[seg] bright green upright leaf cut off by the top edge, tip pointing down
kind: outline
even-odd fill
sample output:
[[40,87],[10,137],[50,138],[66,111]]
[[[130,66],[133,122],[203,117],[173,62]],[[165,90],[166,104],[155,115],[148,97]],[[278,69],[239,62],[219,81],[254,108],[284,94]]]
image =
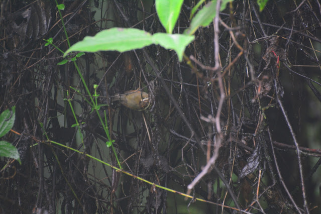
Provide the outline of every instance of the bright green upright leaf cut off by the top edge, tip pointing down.
[[171,34],[184,0],[156,0],[156,12],[166,32]]

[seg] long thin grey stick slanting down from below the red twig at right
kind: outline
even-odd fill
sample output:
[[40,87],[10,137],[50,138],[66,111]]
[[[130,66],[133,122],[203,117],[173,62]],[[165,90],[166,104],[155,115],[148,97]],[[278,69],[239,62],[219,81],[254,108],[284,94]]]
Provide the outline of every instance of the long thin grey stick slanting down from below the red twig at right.
[[[276,83],[276,79],[274,79],[274,84],[275,84],[275,88],[277,89],[277,83]],[[277,91],[277,90],[276,90]],[[295,133],[292,129],[292,126],[290,124],[290,121],[286,115],[286,112],[285,112],[285,109],[284,109],[284,106],[282,104],[282,101],[280,100],[280,97],[279,97],[279,93],[276,92],[276,99],[280,105],[280,108],[282,110],[282,113],[283,113],[283,116],[284,116],[284,119],[286,121],[286,124],[287,126],[289,127],[289,130],[291,132],[291,135],[292,135],[292,138],[293,138],[293,141],[294,141],[294,144],[295,144],[295,147],[296,147],[296,153],[297,153],[297,160],[298,160],[298,164],[299,164],[299,172],[300,172],[300,179],[301,179],[301,185],[302,185],[302,194],[303,194],[303,201],[304,201],[304,208],[305,208],[305,211],[306,213],[309,213],[309,208],[307,206],[307,202],[306,202],[306,194],[305,194],[305,186],[304,186],[304,179],[303,179],[303,171],[302,171],[302,161],[301,161],[301,151],[300,151],[300,148],[299,148],[299,145],[296,141],[296,138],[295,138]]]

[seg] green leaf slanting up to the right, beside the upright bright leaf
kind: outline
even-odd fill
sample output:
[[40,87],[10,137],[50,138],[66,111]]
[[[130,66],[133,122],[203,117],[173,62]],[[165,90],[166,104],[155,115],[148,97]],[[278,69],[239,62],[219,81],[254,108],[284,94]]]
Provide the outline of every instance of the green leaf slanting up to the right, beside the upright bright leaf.
[[[232,2],[232,0],[222,0],[220,11],[223,11],[226,8],[226,4],[229,2]],[[204,5],[204,7],[192,19],[189,28],[184,31],[184,34],[192,35],[199,27],[208,26],[216,16],[216,5],[216,0]]]

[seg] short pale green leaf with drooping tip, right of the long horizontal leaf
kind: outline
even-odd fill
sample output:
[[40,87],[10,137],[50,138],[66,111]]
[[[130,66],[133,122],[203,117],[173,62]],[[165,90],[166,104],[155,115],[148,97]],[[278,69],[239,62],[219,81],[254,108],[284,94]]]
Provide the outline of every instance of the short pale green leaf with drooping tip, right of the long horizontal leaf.
[[175,50],[179,61],[182,61],[186,46],[194,40],[194,36],[182,34],[156,33],[153,35],[154,44],[163,48]]

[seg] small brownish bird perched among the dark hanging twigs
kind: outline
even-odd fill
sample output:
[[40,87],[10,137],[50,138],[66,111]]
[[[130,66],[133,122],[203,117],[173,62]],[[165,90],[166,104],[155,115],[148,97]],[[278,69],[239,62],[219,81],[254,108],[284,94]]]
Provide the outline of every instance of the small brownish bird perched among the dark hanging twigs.
[[125,91],[123,94],[117,94],[112,100],[120,101],[122,105],[136,111],[145,111],[150,105],[149,94],[142,92],[139,89]]

